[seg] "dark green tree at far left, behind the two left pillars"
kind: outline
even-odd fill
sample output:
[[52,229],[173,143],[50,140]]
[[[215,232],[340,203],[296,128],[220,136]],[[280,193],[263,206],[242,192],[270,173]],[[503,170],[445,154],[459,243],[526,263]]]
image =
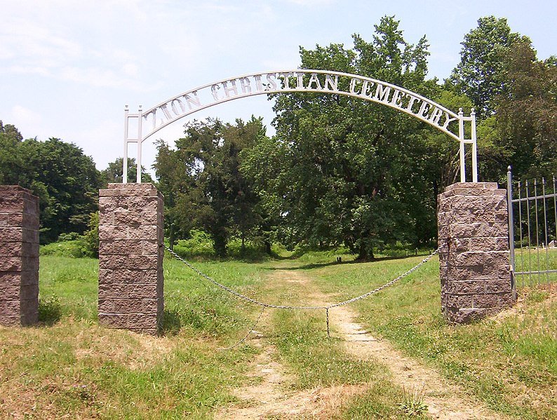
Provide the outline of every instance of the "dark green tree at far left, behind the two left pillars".
[[93,159],[71,143],[22,140],[10,125],[0,128],[0,179],[39,196],[41,242],[60,233],[83,233],[98,206],[100,174]]

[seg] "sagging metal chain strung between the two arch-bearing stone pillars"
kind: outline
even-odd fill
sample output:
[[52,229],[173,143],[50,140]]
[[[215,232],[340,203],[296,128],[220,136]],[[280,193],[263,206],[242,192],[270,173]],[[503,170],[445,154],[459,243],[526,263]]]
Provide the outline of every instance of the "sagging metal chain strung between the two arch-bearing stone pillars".
[[196,269],[194,266],[192,266],[192,264],[189,264],[189,262],[187,262],[185,259],[183,259],[182,257],[180,257],[180,255],[177,255],[176,252],[174,252],[173,250],[170,250],[170,248],[168,248],[166,245],[165,247],[166,250],[168,250],[168,252],[170,252],[171,255],[173,255],[173,257],[175,257],[176,259],[180,260],[181,262],[183,262],[184,264],[186,264],[190,269],[192,269],[193,271],[195,271],[196,273],[199,274],[199,276],[206,278],[207,280],[209,280],[211,283],[213,283],[214,285],[217,285],[218,287],[222,288],[223,290],[226,290],[227,292],[234,294],[234,296],[239,297],[240,299],[244,299],[248,302],[251,302],[253,304],[262,306],[264,308],[274,308],[274,309],[326,309],[327,310],[327,319],[328,319],[328,310],[330,308],[335,308],[337,306],[342,306],[342,305],[347,305],[347,304],[351,304],[353,302],[356,302],[358,300],[361,299],[365,299],[366,297],[370,296],[371,294],[375,294],[377,292],[380,292],[380,290],[383,290],[385,287],[389,287],[391,285],[394,285],[395,283],[397,283],[399,280],[402,280],[403,278],[405,278],[406,276],[408,276],[410,273],[412,273],[413,271],[417,270],[420,268],[420,266],[422,266],[423,264],[425,264],[426,262],[429,261],[429,259],[431,259],[431,257],[433,257],[434,255],[436,255],[439,252],[439,248],[437,248],[436,250],[434,250],[434,252],[431,252],[430,255],[428,255],[426,258],[422,259],[422,262],[420,262],[419,264],[417,264],[416,266],[413,266],[410,270],[406,271],[405,273],[401,274],[401,276],[398,276],[397,278],[394,278],[393,280],[389,281],[389,283],[385,283],[384,285],[377,287],[377,289],[374,290],[370,290],[370,292],[361,294],[360,296],[354,297],[352,299],[349,300],[345,300],[344,302],[339,302],[337,304],[332,304],[332,305],[328,305],[328,306],[287,306],[287,305],[273,305],[273,304],[267,304],[265,302],[259,302],[255,299],[252,299],[250,297],[247,297],[244,294],[241,294],[239,292],[236,292],[235,290],[232,290],[230,287],[227,287],[225,285],[222,285],[221,283],[217,282],[217,280],[213,280],[213,278],[210,278],[209,276],[207,276],[205,273],[203,273],[202,271],[199,271],[198,269]]

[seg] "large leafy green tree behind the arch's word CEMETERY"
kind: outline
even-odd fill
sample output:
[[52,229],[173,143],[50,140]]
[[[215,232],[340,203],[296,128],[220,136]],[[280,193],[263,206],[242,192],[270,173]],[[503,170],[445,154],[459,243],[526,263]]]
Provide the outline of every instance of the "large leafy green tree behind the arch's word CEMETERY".
[[[373,41],[354,35],[353,50],[300,48],[302,68],[356,72],[435,96],[436,81],[425,80],[426,39],[408,44],[398,25],[382,18]],[[384,243],[434,238],[436,172],[427,172],[424,123],[340,95],[281,94],[274,109],[276,137],[248,151],[246,174],[283,241],[344,243],[367,259]]]

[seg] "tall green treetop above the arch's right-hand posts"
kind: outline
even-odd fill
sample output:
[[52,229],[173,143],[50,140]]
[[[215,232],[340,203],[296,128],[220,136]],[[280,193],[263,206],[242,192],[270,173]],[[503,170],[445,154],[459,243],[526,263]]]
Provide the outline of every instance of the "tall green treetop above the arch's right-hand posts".
[[460,62],[452,70],[448,86],[467,95],[479,119],[495,112],[495,100],[504,89],[504,51],[520,38],[504,18],[478,19],[478,27],[464,36]]

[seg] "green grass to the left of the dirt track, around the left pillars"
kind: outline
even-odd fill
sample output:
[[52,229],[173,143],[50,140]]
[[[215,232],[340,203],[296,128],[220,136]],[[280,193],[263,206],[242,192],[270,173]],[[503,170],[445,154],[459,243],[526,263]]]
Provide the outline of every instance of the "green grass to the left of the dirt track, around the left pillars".
[[[253,264],[199,264],[246,294]],[[0,417],[209,419],[234,398],[255,349],[234,343],[255,308],[166,260],[165,337],[97,325],[98,261],[43,256],[36,327],[0,327]],[[15,334],[17,332],[17,334]]]

